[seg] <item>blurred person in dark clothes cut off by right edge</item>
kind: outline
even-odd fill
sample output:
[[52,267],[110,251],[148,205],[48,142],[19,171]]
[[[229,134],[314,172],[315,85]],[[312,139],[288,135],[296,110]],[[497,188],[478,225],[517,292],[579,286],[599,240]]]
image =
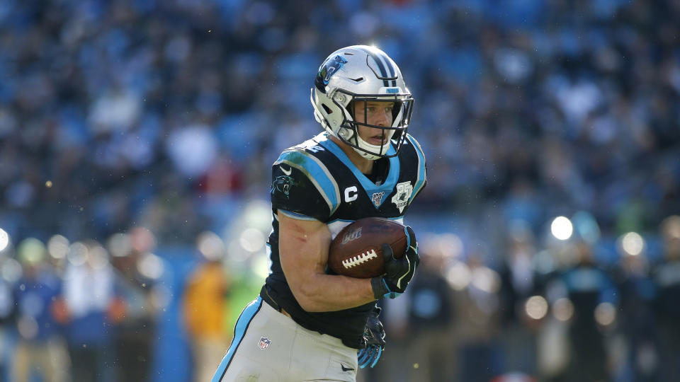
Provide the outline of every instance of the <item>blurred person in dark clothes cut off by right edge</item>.
[[669,216],[660,226],[663,259],[652,272],[657,288],[655,313],[659,336],[660,381],[680,376],[680,216]]

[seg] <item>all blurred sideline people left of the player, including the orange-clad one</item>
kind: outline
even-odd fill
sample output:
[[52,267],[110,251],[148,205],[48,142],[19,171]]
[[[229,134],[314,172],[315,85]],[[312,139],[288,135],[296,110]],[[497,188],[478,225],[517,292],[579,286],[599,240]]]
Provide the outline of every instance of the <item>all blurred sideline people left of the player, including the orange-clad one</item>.
[[173,250],[135,227],[103,243],[25,238],[11,252],[0,257],[0,381],[210,381],[266,276],[225,259],[209,231]]

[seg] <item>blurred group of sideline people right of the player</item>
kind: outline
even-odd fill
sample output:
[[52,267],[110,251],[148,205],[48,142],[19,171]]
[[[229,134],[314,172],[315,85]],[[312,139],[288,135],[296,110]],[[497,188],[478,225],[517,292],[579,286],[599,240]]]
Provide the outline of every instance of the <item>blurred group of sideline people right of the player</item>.
[[599,260],[583,232],[507,232],[496,265],[455,235],[426,236],[407,299],[386,302],[389,346],[363,381],[676,381],[680,216],[659,226],[659,258],[623,236]]

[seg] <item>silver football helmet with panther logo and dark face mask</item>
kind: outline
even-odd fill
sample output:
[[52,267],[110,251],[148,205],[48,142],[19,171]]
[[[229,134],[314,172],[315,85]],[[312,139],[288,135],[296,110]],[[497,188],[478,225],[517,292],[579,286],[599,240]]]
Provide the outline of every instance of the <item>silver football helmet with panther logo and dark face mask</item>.
[[[319,66],[310,100],[314,117],[322,127],[353,147],[363,158],[374,160],[395,156],[406,139],[413,97],[397,64],[378,48],[353,45],[331,53]],[[368,125],[354,120],[356,103],[369,101],[395,103],[392,126]],[[382,129],[383,144],[369,144],[361,139],[359,125]],[[389,151],[391,141],[395,144],[394,151]]]

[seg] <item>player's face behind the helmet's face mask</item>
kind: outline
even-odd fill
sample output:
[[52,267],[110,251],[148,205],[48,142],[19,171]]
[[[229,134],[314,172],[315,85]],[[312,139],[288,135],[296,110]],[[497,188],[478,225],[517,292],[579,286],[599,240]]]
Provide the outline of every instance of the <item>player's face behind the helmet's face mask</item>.
[[[390,127],[392,126],[392,109],[394,107],[395,103],[388,101],[359,101],[354,105],[354,120],[366,125]],[[382,136],[383,131],[385,132],[385,137]],[[394,130],[382,130],[375,127],[358,125],[359,137],[366,143],[375,146],[385,144],[392,138],[394,132]]]

